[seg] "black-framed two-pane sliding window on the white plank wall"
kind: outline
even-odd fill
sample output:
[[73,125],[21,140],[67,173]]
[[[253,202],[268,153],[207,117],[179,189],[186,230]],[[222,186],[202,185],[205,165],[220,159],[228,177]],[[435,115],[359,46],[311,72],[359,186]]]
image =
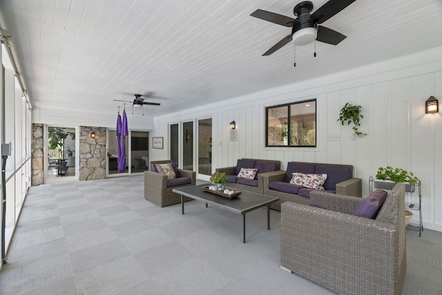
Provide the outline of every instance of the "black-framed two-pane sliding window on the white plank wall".
[[266,146],[316,146],[316,99],[269,106],[265,111]]

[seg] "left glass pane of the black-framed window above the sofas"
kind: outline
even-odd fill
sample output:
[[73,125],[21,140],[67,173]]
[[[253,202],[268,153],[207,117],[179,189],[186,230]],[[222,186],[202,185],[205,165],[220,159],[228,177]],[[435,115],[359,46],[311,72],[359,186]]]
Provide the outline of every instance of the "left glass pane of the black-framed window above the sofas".
[[267,108],[267,145],[287,146],[288,144],[288,106]]

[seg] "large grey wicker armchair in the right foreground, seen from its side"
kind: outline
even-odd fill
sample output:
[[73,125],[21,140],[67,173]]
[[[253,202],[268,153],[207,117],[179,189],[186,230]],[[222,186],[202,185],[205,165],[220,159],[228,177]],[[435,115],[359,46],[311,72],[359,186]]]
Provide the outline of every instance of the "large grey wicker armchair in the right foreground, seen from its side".
[[[311,193],[320,207],[281,207],[281,267],[340,294],[401,294],[407,269],[405,186],[388,193],[375,220],[351,215],[361,198]],[[332,211],[334,210],[334,211]]]

